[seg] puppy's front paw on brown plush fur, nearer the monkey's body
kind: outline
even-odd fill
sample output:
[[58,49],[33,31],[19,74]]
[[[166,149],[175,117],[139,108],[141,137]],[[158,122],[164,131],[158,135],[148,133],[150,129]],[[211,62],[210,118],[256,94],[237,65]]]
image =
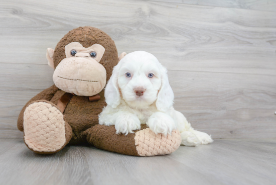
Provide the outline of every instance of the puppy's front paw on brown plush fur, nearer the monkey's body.
[[133,133],[133,130],[141,129],[141,122],[133,114],[121,114],[115,120],[116,134],[122,133],[127,135]]

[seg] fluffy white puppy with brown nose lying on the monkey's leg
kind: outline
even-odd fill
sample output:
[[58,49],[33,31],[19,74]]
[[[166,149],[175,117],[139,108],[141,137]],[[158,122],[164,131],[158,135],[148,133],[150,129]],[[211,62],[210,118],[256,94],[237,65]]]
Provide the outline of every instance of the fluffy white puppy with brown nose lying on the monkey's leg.
[[117,134],[133,133],[147,124],[156,134],[167,135],[178,129],[182,145],[213,142],[174,110],[167,69],[150,53],[135,51],[123,57],[113,69],[104,96],[107,106],[99,115],[99,124],[115,125]]

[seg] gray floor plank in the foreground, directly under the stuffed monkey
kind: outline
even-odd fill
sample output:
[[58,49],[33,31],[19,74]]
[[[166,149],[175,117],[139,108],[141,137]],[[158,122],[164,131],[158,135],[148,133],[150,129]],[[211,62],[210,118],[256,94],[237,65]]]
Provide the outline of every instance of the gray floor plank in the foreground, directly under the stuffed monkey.
[[83,146],[42,156],[20,143],[0,155],[1,184],[219,184],[168,156],[141,158]]

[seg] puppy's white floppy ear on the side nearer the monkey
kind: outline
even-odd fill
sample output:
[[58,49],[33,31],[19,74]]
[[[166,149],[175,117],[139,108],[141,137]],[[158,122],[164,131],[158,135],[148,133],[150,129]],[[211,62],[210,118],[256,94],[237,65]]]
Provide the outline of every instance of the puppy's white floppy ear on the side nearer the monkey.
[[121,101],[118,88],[119,64],[113,68],[112,75],[104,90],[105,102],[112,108],[116,108]]

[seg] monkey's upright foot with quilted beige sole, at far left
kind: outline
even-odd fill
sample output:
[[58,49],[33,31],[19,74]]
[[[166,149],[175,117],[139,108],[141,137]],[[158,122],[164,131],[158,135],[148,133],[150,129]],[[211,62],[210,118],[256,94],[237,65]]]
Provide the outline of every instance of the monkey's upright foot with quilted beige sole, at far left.
[[48,101],[31,103],[24,112],[23,126],[26,145],[40,154],[58,152],[72,137],[72,128],[63,114]]

